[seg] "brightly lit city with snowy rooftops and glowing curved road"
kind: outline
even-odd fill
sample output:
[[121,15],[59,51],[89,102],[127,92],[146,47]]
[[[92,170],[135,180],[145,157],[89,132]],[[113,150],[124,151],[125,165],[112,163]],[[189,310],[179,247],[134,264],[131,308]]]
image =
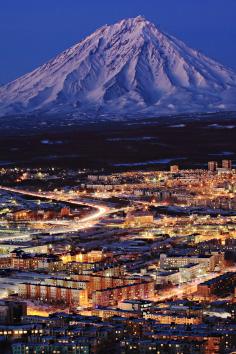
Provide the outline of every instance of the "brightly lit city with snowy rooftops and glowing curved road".
[[234,352],[235,191],[226,158],[0,168],[2,353]]

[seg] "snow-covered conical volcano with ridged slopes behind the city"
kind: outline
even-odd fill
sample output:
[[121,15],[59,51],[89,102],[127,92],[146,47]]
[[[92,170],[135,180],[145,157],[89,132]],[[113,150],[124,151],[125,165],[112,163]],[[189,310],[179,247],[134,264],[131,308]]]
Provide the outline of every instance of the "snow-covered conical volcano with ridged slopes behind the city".
[[98,29],[0,87],[1,115],[35,110],[119,115],[236,110],[236,74],[139,16]]

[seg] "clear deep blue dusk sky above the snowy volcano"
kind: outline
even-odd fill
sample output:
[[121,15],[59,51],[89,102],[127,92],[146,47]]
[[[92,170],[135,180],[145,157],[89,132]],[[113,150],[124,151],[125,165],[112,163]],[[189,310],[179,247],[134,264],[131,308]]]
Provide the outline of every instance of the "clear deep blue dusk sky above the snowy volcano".
[[0,83],[138,15],[236,71],[236,0],[1,0]]

